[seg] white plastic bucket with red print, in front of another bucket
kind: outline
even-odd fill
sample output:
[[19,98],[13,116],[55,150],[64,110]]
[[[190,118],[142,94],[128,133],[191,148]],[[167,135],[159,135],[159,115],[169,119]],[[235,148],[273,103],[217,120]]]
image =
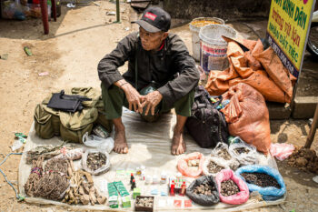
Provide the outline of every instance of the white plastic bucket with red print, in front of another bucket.
[[211,70],[222,71],[229,66],[227,43],[222,35],[235,38],[236,31],[228,25],[204,25],[200,29],[200,65],[206,74]]

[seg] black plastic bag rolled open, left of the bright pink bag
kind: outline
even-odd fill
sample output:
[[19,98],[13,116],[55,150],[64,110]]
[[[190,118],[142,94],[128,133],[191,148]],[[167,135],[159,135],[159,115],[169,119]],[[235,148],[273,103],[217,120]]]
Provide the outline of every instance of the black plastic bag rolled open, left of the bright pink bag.
[[[215,187],[215,190],[212,192],[212,196],[194,193],[194,188],[204,183]],[[195,203],[206,207],[213,206],[214,204],[220,202],[219,192],[217,190],[216,182],[213,176],[203,176],[195,179],[190,186],[186,188],[186,196],[191,198]]]

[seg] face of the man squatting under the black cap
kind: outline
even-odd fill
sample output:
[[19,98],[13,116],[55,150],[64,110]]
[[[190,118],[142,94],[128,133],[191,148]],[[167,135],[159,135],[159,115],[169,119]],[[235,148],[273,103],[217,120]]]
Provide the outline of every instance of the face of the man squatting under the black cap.
[[139,36],[146,51],[158,49],[167,35],[165,32],[149,33],[143,27],[139,27]]

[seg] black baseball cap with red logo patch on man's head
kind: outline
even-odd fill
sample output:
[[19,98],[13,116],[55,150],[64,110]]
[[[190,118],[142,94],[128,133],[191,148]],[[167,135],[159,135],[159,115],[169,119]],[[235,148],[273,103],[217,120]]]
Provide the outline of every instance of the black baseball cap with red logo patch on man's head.
[[142,26],[145,31],[156,33],[160,31],[167,32],[171,24],[171,16],[162,8],[152,6],[144,10],[142,19],[135,22]]

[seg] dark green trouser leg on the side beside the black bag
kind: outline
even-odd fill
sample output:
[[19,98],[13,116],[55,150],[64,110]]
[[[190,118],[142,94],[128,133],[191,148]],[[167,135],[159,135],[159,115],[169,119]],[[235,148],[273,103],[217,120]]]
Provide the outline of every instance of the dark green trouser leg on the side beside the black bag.
[[[174,103],[174,110],[177,115],[191,116],[191,108],[194,105],[194,90],[190,91],[187,95],[180,98]],[[172,108],[166,107],[163,104],[162,111],[166,112]]]

